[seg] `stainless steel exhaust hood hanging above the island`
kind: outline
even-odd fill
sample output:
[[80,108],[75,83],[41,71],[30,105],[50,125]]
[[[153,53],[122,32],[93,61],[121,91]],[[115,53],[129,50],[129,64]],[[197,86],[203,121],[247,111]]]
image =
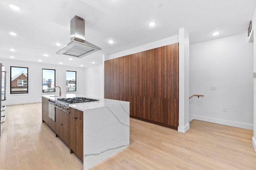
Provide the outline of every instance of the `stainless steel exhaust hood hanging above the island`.
[[99,50],[101,50],[100,47],[85,41],[84,19],[74,16],[70,21],[70,43],[62,47],[56,54],[82,58]]

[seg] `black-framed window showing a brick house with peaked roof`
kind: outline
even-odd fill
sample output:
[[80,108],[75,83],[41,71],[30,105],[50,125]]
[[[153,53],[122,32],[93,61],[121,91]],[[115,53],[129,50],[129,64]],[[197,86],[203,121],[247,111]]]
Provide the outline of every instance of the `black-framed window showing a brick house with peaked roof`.
[[28,93],[28,68],[11,66],[10,94]]

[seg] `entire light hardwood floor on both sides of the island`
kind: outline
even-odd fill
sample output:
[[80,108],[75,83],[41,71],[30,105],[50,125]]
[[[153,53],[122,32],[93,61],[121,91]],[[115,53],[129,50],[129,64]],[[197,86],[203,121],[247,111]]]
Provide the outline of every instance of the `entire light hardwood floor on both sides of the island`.
[[[0,169],[79,170],[82,163],[42,123],[41,103],[6,107]],[[92,170],[256,170],[253,131],[194,120],[186,133],[130,119],[130,146]]]

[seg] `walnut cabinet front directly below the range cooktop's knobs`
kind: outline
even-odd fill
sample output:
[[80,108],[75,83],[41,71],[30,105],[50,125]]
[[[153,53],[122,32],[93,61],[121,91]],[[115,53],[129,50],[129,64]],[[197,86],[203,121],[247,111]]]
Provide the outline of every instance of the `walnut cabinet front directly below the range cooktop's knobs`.
[[55,109],[56,137],[60,137],[70,147],[70,113]]

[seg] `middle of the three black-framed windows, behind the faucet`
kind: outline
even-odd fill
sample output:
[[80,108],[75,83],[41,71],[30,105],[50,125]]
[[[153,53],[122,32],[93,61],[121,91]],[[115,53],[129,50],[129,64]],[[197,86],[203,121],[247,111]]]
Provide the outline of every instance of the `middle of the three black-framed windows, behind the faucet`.
[[55,70],[42,70],[42,92],[55,92]]

